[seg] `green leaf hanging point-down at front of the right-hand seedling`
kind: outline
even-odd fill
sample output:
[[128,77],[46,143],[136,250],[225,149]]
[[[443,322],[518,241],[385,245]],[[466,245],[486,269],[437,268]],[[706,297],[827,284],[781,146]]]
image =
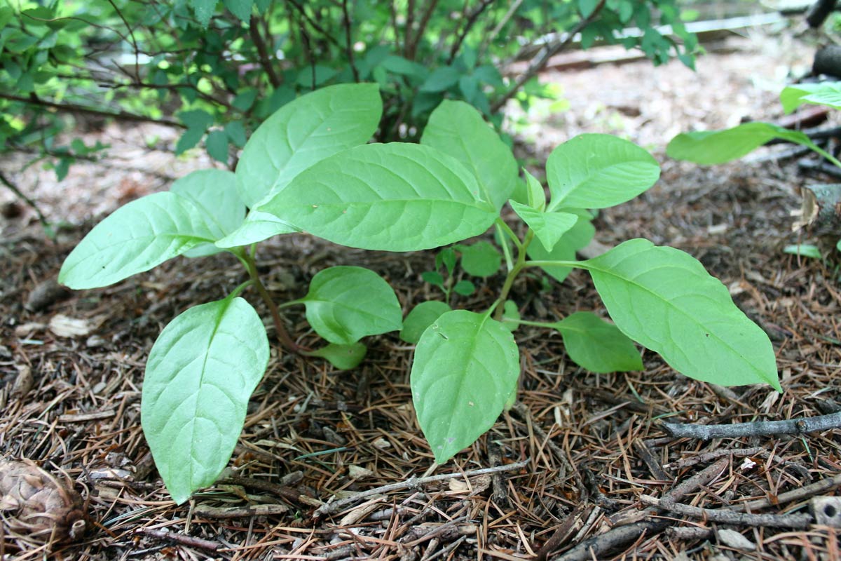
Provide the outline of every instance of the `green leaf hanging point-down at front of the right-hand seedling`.
[[410,382],[418,422],[437,463],[494,426],[519,376],[514,336],[488,315],[454,310],[424,331]]

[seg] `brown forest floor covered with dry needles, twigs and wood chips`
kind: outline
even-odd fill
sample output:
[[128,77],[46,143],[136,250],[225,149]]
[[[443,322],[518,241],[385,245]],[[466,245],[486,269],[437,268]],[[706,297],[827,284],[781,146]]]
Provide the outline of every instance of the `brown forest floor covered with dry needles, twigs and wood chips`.
[[[653,151],[663,164],[661,180],[602,212],[597,240],[612,246],[647,237],[700,259],[768,332],[782,394],[764,385],[696,382],[651,352],[643,372],[586,373],[569,362],[558,334],[521,328],[518,405],[433,470],[411,405],[412,347],[396,334],[369,341],[368,357],[350,372],[273,349],[228,479],[181,506],[167,495],[140,430],[145,357],[175,315],[241,283],[235,259],[178,258],[109,288],[40,300],[33,293],[55,280],[72,246],[104,213],[209,162],[175,159],[167,150],[172,131],[152,125],[87,132],[112,146],[110,157],[72,167],[60,184],[39,167],[20,171],[25,155],[6,158],[4,172],[50,220],[66,224],[52,242],[25,209],[0,218],[0,462],[27,458],[66,477],[86,501],[89,520],[87,532],[54,544],[51,553],[3,524],[0,558],[841,558],[837,527],[796,527],[782,516],[807,512],[812,495],[833,495],[841,485],[837,429],[701,441],[669,437],[662,426],[841,409],[838,259],[782,251],[809,241],[792,233],[798,188],[834,180],[802,175],[792,161],[754,157],[697,167],[664,156],[669,138],[683,130],[779,119],[776,93],[786,77],[807,70],[812,52],[788,31],[752,33],[701,57],[696,73],[676,61],[550,71],[544,81],[563,87],[566,102],[536,104],[526,115],[531,124],[517,124],[521,112],[511,112],[512,130],[526,146],[521,156],[536,172],[553,146],[585,131],[625,135]],[[278,301],[299,298],[316,272],[339,264],[383,275],[405,310],[438,297],[420,278],[432,268],[432,252],[356,251],[282,236],[263,244],[258,257]],[[476,294],[457,297],[457,307],[487,306],[502,275],[476,282]],[[580,272],[548,289],[522,278],[512,297],[526,319],[603,313]],[[246,298],[267,317],[255,294]],[[302,344],[316,345],[302,315],[290,313],[288,322]],[[489,467],[498,469],[468,474]],[[445,477],[411,479],[431,474]],[[808,486],[822,481],[828,483]],[[334,497],[400,483],[314,516]]]

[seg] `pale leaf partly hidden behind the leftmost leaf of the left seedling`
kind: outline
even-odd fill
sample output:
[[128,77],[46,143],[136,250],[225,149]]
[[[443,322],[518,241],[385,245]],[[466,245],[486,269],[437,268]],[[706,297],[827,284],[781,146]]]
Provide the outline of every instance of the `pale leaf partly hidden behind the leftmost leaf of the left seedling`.
[[[196,206],[217,240],[236,230],[245,218],[246,205],[236,194],[236,177],[227,170],[196,170],[177,179],[169,190]],[[193,247],[185,255],[201,257],[219,251],[217,246],[206,244]]]

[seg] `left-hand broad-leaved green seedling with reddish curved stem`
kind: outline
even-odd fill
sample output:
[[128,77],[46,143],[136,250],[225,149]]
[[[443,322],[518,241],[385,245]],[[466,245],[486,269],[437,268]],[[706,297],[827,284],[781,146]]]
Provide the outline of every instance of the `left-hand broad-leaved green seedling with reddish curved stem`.
[[71,251],[59,273],[70,288],[98,288],[183,255],[232,253],[249,280],[225,299],[200,304],[172,320],[151,348],[140,406],[141,423],[161,477],[181,504],[214,483],[230,460],[253,390],[266,371],[267,332],[240,294],[256,288],[284,347],[354,368],[365,336],[397,331],[402,310],[383,278],[362,267],[331,267],[309,292],[280,309],[303,304],[313,330],[328,344],[300,348],[278,306],[257,277],[256,243],[296,229],[251,208],[283,190],[317,161],[367,142],[382,113],[378,87],[325,87],[280,108],[248,140],[235,173],[192,172],[125,204]]

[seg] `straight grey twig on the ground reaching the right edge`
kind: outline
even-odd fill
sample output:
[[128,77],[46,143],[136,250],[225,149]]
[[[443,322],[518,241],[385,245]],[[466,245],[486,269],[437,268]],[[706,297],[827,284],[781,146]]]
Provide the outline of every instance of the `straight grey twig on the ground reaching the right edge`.
[[780,434],[805,434],[807,432],[826,431],[841,427],[841,412],[786,421],[756,421],[735,425],[690,425],[682,423],[663,423],[664,431],[674,438],[712,438],[761,437]]

